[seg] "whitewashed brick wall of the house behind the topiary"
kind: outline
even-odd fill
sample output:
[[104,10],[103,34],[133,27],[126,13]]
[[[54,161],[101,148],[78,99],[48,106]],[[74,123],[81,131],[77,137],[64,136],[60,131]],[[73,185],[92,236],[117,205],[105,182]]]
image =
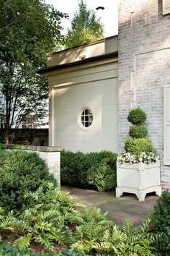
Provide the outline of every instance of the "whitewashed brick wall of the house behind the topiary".
[[161,158],[161,186],[170,187],[170,166],[163,164],[163,88],[170,85],[170,14],[161,0],[119,1],[119,148],[128,137],[128,111],[148,114],[148,137]]

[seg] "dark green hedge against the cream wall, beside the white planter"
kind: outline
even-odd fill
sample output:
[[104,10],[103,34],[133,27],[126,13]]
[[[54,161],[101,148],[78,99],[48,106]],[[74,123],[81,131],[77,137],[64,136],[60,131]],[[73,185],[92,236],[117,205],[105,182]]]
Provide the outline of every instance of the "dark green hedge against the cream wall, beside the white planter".
[[106,191],[116,186],[117,155],[99,153],[61,152],[61,183]]

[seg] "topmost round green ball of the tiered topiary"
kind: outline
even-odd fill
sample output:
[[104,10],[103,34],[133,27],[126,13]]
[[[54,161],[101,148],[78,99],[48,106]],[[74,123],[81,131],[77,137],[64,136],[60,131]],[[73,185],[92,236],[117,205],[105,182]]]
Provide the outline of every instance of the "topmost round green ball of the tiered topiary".
[[128,114],[128,121],[132,124],[143,124],[146,121],[146,112],[142,108],[137,107],[130,110]]

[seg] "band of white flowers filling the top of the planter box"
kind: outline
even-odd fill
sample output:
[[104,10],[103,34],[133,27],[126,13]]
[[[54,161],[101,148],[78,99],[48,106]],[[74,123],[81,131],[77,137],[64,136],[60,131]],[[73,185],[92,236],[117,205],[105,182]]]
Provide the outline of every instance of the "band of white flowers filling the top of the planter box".
[[154,152],[141,152],[141,153],[119,153],[117,155],[117,162],[120,163],[156,163],[159,160],[158,155]]

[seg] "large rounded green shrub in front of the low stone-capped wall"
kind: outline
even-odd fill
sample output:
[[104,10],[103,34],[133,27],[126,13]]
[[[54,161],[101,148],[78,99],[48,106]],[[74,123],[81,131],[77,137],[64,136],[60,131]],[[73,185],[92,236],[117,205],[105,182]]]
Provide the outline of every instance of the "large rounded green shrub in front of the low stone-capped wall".
[[0,150],[0,206],[16,213],[25,208],[24,193],[56,181],[36,153]]

